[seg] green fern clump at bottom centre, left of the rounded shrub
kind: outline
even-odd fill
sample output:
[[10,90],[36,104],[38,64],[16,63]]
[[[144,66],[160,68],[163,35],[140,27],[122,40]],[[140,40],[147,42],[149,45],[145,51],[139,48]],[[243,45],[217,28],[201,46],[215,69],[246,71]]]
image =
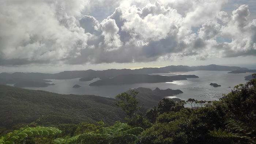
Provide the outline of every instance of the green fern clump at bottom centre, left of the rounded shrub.
[[[103,125],[101,125],[103,126]],[[116,122],[113,126],[94,127],[83,134],[79,134],[67,139],[56,139],[55,144],[125,144],[134,143],[138,135],[143,131],[142,128],[132,128],[128,124]],[[91,128],[91,126],[90,126]],[[95,129],[96,128],[96,129]]]

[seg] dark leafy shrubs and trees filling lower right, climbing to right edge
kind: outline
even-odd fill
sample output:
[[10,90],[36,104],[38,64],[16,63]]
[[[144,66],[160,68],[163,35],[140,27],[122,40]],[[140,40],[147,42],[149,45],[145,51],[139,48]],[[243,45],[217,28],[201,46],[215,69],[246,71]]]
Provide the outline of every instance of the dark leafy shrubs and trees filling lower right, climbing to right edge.
[[219,101],[187,103],[192,109],[169,105],[169,111],[158,106],[148,110],[146,116],[154,124],[140,134],[138,143],[255,143],[256,80],[236,86]]

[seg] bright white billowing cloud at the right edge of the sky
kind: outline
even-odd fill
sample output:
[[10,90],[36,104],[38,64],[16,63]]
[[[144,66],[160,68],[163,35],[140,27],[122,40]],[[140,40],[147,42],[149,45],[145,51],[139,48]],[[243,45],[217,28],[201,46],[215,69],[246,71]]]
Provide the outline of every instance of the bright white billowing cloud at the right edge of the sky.
[[220,35],[232,38],[230,43],[220,43],[217,47],[224,57],[256,54],[256,19],[249,19],[248,5],[241,5],[232,12],[231,20],[223,26]]

